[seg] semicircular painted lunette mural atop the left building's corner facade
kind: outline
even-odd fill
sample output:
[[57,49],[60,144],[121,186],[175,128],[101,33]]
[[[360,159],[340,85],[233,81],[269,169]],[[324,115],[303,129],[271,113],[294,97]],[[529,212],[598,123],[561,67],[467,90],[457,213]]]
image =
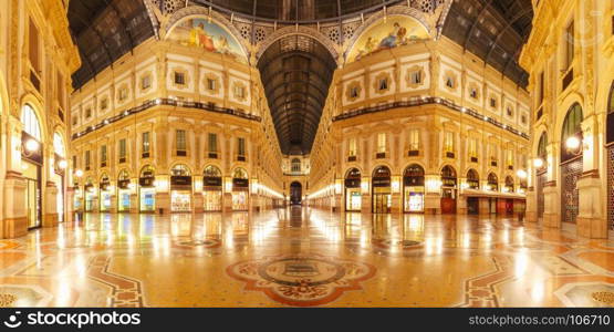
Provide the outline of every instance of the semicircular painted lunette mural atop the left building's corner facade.
[[208,18],[185,18],[169,30],[166,39],[207,52],[226,54],[236,61],[247,63],[247,55],[237,39]]

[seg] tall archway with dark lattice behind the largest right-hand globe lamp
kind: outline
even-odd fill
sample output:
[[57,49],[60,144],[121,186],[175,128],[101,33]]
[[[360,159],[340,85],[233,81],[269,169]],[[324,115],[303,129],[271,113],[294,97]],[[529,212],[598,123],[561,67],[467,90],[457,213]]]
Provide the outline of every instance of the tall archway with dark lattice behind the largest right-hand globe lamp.
[[580,195],[577,179],[582,175],[582,106],[573,104],[561,131],[561,221],[575,224]]

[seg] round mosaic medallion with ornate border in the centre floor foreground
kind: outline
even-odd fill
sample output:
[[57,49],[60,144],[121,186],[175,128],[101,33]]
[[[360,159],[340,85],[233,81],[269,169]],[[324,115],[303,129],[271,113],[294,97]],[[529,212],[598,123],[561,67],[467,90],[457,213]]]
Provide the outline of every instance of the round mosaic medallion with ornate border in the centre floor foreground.
[[261,291],[280,303],[298,307],[334,301],[345,291],[362,289],[375,276],[365,262],[315,253],[275,256],[238,262],[227,268],[230,277],[246,282],[246,290]]

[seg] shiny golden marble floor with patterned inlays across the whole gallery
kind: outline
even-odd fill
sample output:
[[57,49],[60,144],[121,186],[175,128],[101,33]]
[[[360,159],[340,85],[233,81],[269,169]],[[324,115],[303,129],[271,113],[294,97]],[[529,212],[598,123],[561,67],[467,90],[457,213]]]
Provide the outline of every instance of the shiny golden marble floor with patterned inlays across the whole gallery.
[[613,307],[614,240],[496,216],[110,215],[0,240],[0,307]]

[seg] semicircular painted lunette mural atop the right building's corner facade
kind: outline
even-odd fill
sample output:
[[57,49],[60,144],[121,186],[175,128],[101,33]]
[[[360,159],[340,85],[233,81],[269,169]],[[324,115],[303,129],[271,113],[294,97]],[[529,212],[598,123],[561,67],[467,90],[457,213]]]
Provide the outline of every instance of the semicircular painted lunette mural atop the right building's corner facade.
[[360,60],[382,50],[430,39],[428,30],[407,15],[389,15],[368,27],[347,52],[346,62]]

